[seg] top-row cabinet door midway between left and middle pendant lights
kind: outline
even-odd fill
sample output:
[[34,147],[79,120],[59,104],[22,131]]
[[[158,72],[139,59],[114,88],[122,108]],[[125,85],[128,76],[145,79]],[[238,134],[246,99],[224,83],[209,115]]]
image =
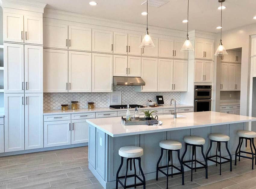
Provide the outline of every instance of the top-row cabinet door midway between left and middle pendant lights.
[[165,58],[173,58],[174,56],[174,41],[173,39],[159,38],[158,56]]

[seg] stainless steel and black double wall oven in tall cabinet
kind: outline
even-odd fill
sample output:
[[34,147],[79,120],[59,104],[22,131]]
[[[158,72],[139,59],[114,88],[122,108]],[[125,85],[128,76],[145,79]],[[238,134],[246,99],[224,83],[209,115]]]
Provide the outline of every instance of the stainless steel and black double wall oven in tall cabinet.
[[195,111],[211,111],[211,85],[195,85]]

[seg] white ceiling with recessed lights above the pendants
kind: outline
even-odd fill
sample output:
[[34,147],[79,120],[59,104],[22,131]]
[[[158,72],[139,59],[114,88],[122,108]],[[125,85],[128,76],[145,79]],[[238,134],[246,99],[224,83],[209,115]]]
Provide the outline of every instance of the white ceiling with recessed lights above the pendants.
[[[146,11],[145,0],[95,0],[96,6],[89,5],[91,0],[32,0],[47,3],[46,8],[57,9],[92,15],[96,17],[123,20],[133,23],[145,23],[146,17],[141,12]],[[208,32],[219,32],[220,6],[218,0],[190,0],[189,30],[198,29]],[[226,0],[227,8],[223,10],[223,30],[256,23],[255,0]],[[148,24],[165,28],[186,30],[182,23],[187,17],[187,0],[169,0],[165,5],[148,8]],[[150,29],[150,28],[149,28]]]

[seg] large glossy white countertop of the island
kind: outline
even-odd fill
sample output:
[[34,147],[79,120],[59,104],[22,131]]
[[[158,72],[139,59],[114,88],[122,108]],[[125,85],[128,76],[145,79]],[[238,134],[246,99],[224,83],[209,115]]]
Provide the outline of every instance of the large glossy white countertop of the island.
[[[183,117],[178,117],[178,115]],[[125,126],[121,123],[120,117],[87,119],[86,121],[112,137],[256,121],[256,117],[226,114],[215,111],[178,113],[176,119],[173,118],[173,115],[160,115],[158,118],[163,122],[160,126]]]

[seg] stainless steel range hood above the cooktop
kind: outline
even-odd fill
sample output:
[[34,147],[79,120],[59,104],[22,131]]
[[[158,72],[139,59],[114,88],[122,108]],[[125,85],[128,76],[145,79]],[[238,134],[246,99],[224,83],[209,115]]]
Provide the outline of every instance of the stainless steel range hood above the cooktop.
[[145,81],[143,81],[140,77],[113,77],[114,85],[145,85]]

